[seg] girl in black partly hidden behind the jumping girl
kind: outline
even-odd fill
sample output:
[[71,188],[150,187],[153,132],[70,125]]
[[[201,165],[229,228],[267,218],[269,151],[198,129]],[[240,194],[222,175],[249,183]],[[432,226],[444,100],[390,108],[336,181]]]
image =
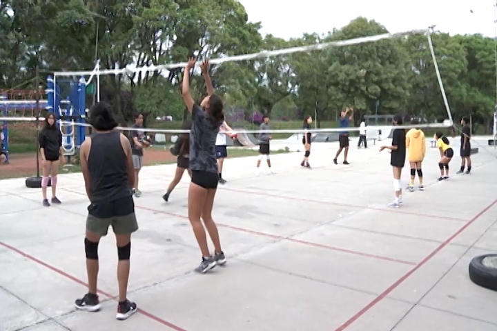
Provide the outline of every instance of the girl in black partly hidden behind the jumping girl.
[[[190,130],[192,126],[191,121],[185,121],[183,123],[183,130]],[[184,170],[188,172],[188,175],[191,178],[191,170],[190,168],[190,134],[189,133],[182,133],[177,141],[175,142],[175,146],[171,148],[170,150],[171,154],[175,155],[177,157],[176,161],[176,172],[175,172],[175,177],[173,180],[170,182],[168,186],[168,190],[166,194],[162,196],[162,199],[164,201],[169,200],[169,194],[170,192],[173,192],[174,188],[176,185],[181,181]]]

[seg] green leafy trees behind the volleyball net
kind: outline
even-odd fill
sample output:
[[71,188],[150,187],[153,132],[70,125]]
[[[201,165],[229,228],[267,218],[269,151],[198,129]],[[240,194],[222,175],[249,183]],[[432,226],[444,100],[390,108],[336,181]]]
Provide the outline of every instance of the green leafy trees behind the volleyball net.
[[[388,32],[364,17],[326,35],[291,40],[271,34],[263,38],[259,30],[260,23],[249,22],[235,0],[0,1],[0,88],[26,86],[37,66],[45,74],[91,70],[97,58],[101,69],[142,67],[188,56],[216,58]],[[472,115],[488,128],[496,101],[494,40],[445,33],[431,37],[454,118]],[[104,76],[101,99],[113,104],[119,121],[132,119],[135,112],[149,120],[168,115],[181,119],[188,115],[179,94],[182,72],[174,68]],[[316,114],[318,126],[324,126],[322,121],[335,119],[345,106],[355,108],[355,125],[376,110],[430,120],[447,117],[425,35],[222,63],[211,68],[211,75],[227,106],[246,114],[253,108],[273,119],[300,121],[305,114]],[[191,85],[194,98],[202,99],[205,88],[198,70]]]

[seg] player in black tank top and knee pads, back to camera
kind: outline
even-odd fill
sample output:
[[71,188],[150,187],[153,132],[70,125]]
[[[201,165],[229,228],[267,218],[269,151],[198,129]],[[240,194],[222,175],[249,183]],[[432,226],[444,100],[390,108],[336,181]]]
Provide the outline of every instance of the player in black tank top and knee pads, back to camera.
[[117,243],[117,283],[119,303],[116,319],[128,319],[137,305],[128,300],[131,234],[138,230],[131,189],[135,186],[133,151],[128,138],[121,134],[112,110],[106,103],[96,103],[90,112],[93,134],[81,144],[79,158],[86,195],[90,200],[86,218],[84,247],[88,293],[75,301],[76,308],[96,312],[101,305],[97,296],[99,272],[98,246],[111,225]]

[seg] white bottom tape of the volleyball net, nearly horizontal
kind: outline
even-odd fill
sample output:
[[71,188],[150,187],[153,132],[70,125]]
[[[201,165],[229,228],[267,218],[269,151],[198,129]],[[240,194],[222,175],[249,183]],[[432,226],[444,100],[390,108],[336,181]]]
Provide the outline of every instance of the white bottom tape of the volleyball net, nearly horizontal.
[[[23,121],[23,122],[31,122],[31,121],[44,121],[44,117],[39,117],[37,119],[36,117],[0,117],[0,121]],[[64,125],[64,126],[85,126],[85,127],[90,127],[90,124],[88,123],[77,123],[73,121],[57,121],[59,124]],[[388,130],[388,129],[413,129],[413,128],[451,128],[452,124],[451,123],[426,123],[426,124],[418,124],[416,126],[411,126],[411,125],[406,125],[406,126],[366,126],[366,130]],[[150,133],[169,133],[169,134],[181,134],[181,133],[189,133],[190,130],[174,130],[174,129],[155,129],[155,128],[128,128],[128,127],[117,127],[117,130],[123,130],[123,131],[146,131],[149,134]],[[324,128],[324,129],[295,129],[295,130],[245,130],[245,129],[237,129],[233,130],[230,133],[252,133],[252,134],[259,134],[259,133],[303,133],[303,132],[311,132],[311,133],[332,133],[332,132],[358,132],[364,130],[364,128]]]

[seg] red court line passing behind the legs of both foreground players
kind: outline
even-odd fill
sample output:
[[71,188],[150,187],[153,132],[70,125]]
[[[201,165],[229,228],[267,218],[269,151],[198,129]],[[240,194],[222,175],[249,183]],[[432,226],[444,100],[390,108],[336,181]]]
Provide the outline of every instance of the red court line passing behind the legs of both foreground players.
[[[79,194],[79,195],[86,196],[86,194],[84,194],[84,193],[77,192],[77,191],[74,191],[74,190],[68,190],[66,188],[59,188],[59,190],[64,190],[64,191],[71,192],[71,193],[74,193],[74,194]],[[186,217],[184,215],[175,214],[173,212],[166,212],[164,210],[158,210],[158,209],[154,209],[154,208],[148,208],[148,207],[144,207],[142,205],[136,205],[135,204],[135,208],[141,209],[141,210],[148,210],[149,212],[155,212],[157,214],[165,214],[165,215],[169,215],[169,216],[172,216],[172,217],[178,217],[178,218],[181,218],[181,219],[188,219],[188,217]],[[216,224],[217,224],[217,226],[220,226],[221,228],[227,228],[227,229],[231,229],[231,230],[235,230],[235,231],[239,231],[239,232],[244,232],[244,233],[248,233],[248,234],[255,234],[255,235],[260,236],[260,237],[272,238],[272,239],[277,239],[277,240],[291,241],[293,243],[300,243],[302,245],[308,245],[308,246],[315,247],[315,248],[324,248],[326,250],[333,250],[335,252],[342,252],[342,253],[346,253],[346,254],[353,254],[353,255],[356,255],[356,256],[359,256],[359,257],[369,257],[371,259],[378,259],[378,260],[383,260],[383,261],[396,262],[396,263],[401,263],[401,264],[406,264],[406,265],[416,265],[415,262],[405,261],[405,260],[400,260],[400,259],[394,259],[393,257],[384,257],[384,256],[381,256],[381,255],[369,254],[369,253],[365,253],[365,252],[358,252],[358,251],[355,251],[355,250],[347,250],[345,248],[338,248],[338,247],[334,247],[334,246],[330,246],[330,245],[324,245],[322,243],[313,243],[311,241],[304,241],[304,240],[295,239],[295,238],[292,238],[292,237],[284,237],[284,236],[279,236],[277,234],[270,234],[270,233],[266,233],[266,232],[260,232],[260,231],[256,231],[256,230],[250,230],[250,229],[246,229],[246,228],[240,228],[240,227],[237,227],[237,226],[234,226],[234,225],[228,225],[228,224],[224,224],[224,223],[218,223],[218,222],[216,222]]]

